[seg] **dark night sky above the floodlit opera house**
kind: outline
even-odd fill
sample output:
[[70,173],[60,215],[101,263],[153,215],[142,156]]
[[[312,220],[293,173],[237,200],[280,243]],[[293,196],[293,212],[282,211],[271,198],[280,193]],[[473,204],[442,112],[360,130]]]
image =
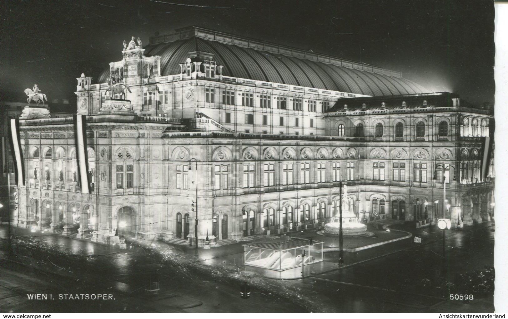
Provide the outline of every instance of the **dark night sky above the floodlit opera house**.
[[[173,2],[174,1],[174,2]],[[75,100],[121,60],[122,41],[197,25],[401,71],[429,91],[494,102],[491,1],[6,1],[0,4],[0,91],[38,84]],[[338,34],[351,33],[351,34]],[[95,83],[95,82],[93,82]]]

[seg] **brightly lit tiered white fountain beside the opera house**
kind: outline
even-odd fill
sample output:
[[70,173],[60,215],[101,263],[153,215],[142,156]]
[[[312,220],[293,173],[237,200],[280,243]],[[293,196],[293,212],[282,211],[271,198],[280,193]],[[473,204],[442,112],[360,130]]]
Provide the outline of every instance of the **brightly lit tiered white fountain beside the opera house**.
[[[342,234],[344,236],[369,236],[367,225],[360,222],[358,217],[349,210],[347,198],[347,187],[343,186],[342,191]],[[337,212],[331,222],[325,224],[325,231],[318,232],[322,235],[339,235],[340,217]]]

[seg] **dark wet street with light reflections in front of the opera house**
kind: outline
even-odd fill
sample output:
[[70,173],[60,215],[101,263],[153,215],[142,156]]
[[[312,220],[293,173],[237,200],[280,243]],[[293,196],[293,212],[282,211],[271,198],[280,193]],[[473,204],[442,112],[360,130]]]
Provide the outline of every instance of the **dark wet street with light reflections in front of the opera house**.
[[[57,235],[21,241],[58,243],[63,253],[15,245],[7,254],[2,241],[0,311],[39,312],[491,312],[489,294],[469,303],[450,301],[461,273],[493,265],[494,232],[489,224],[465,230],[447,230],[446,258],[442,258],[442,232],[434,227],[406,229],[422,238],[345,254],[347,267],[303,280],[257,281],[251,298],[240,298],[240,283],[224,272],[203,273],[193,265],[176,267],[167,256],[132,246],[111,251],[92,243],[77,243]],[[0,232],[5,236],[5,226]],[[76,256],[75,254],[96,256]],[[334,260],[337,253],[326,253]],[[155,296],[143,292],[150,281],[159,281]],[[263,289],[262,287],[266,287]],[[268,288],[269,287],[269,288]],[[286,292],[281,297],[282,291]],[[114,300],[38,300],[26,293],[110,293]],[[289,294],[287,292],[290,292]],[[292,294],[295,298],[291,298]],[[289,297],[288,297],[289,295]],[[298,298],[296,298],[298,296]],[[304,308],[301,298],[313,303]],[[299,301],[300,300],[300,301]]]

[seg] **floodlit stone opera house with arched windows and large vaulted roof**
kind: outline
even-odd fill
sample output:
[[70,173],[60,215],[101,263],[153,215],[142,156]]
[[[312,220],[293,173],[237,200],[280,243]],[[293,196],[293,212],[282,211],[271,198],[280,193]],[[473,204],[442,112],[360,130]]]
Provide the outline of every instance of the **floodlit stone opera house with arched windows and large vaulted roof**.
[[[197,201],[199,245],[226,245],[322,226],[339,181],[360,220],[425,225],[442,216],[443,175],[454,225],[490,218],[491,113],[455,94],[197,27],[122,55],[99,84],[77,78],[85,175],[72,118],[20,121],[17,226],[185,244],[196,237]],[[128,86],[126,100],[108,91],[115,83]]]

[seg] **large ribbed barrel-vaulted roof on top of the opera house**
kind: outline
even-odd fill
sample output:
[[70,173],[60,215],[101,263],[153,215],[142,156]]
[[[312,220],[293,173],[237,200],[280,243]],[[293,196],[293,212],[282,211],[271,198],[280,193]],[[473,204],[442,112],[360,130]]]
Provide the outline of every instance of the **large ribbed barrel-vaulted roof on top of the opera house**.
[[213,54],[223,75],[363,95],[426,90],[400,72],[199,27],[150,38],[145,55],[161,56],[161,74],[180,73],[189,52]]

